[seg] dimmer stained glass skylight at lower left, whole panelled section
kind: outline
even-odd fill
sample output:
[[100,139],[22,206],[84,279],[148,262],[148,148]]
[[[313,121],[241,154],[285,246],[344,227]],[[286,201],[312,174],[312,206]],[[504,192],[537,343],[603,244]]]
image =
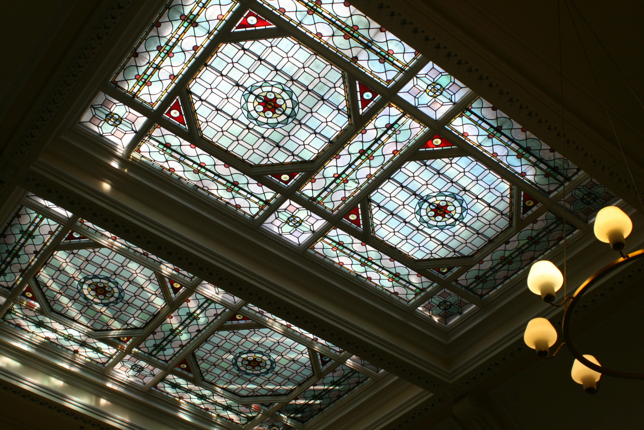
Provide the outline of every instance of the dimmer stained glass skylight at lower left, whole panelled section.
[[216,420],[301,428],[384,375],[35,195],[3,230],[0,258],[4,329]]

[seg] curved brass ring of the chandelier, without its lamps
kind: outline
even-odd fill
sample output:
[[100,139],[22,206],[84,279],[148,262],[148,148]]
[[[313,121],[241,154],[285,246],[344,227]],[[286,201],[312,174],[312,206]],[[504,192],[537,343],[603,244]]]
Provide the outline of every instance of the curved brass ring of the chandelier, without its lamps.
[[[576,347],[574,347],[573,341],[569,333],[569,326],[571,324],[571,318],[573,317],[574,308],[579,303],[580,298],[582,298],[583,294],[587,292],[592,286],[594,286],[594,284],[602,280],[606,275],[609,275],[609,273],[612,273],[613,271],[621,268],[622,266],[625,266],[626,264],[632,262],[633,260],[641,259],[643,257],[644,257],[644,249],[639,249],[638,251],[629,253],[625,255],[625,257],[621,257],[620,259],[617,259],[611,262],[610,264],[608,264],[607,266],[605,266],[604,268],[600,269],[599,271],[594,273],[594,275],[589,277],[589,279],[585,280],[585,282],[583,282],[583,284],[577,289],[577,291],[574,292],[574,295],[570,304],[565,309],[564,321],[562,322],[562,332],[564,334],[565,345],[568,347],[571,354],[573,354],[573,357],[576,358],[581,364],[583,364],[583,366],[586,366],[591,370],[599,372],[602,375],[614,376],[616,378],[644,380],[644,373],[626,373],[626,372],[612,370],[612,369],[609,369],[608,367],[598,366],[592,363],[591,361],[589,361],[587,358],[583,357],[583,355],[579,351],[577,351]],[[566,300],[567,298],[564,299],[564,302]]]

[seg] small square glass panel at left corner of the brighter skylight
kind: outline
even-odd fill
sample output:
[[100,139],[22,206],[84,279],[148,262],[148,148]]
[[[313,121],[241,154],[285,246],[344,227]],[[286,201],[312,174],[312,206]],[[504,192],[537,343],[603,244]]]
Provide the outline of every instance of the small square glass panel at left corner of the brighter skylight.
[[137,111],[109,95],[99,93],[82,116],[80,124],[123,150],[144,122],[146,117]]

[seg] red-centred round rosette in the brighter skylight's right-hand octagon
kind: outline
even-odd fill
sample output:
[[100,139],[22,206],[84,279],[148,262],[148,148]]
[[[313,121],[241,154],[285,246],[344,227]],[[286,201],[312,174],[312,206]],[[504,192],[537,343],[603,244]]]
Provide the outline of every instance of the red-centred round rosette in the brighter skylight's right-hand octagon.
[[416,207],[416,217],[426,227],[444,229],[455,226],[465,217],[465,200],[454,193],[435,193],[423,197]]

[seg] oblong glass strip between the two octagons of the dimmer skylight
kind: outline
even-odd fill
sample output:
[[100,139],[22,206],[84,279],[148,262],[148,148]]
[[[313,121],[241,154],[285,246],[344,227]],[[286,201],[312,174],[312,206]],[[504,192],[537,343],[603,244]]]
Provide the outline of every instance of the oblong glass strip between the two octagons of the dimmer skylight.
[[210,298],[194,293],[168,315],[160,327],[142,342],[139,349],[167,362],[224,310],[222,305]]

